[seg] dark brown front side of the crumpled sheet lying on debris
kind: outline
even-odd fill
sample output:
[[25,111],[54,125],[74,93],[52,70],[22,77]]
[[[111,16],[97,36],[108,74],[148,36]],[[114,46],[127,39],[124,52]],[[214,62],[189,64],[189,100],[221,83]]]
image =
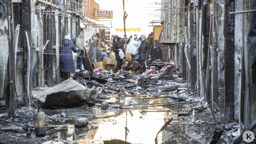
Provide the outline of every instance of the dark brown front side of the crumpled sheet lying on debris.
[[95,104],[98,90],[71,90],[68,92],[51,93],[46,96],[43,106],[45,107],[79,107],[85,103],[91,107]]

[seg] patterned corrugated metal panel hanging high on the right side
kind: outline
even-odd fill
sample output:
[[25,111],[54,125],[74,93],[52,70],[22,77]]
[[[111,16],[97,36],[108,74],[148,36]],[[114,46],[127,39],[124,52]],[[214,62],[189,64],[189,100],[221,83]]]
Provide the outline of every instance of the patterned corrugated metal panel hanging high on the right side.
[[168,2],[160,43],[173,46],[184,42],[184,4],[184,0]]

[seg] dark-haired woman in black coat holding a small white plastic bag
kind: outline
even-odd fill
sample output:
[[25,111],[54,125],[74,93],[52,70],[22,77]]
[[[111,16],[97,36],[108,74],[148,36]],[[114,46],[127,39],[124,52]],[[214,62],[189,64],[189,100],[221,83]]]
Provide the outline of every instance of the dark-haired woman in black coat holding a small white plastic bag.
[[[129,41],[130,39],[127,40],[127,43],[129,43]],[[125,41],[121,37],[118,37],[117,35],[114,36],[113,51],[115,52],[115,59],[117,61],[116,71],[121,70],[122,62],[123,62],[123,59],[125,58],[124,56],[124,58],[121,59],[119,56],[119,49],[121,49],[124,52],[124,43]]]

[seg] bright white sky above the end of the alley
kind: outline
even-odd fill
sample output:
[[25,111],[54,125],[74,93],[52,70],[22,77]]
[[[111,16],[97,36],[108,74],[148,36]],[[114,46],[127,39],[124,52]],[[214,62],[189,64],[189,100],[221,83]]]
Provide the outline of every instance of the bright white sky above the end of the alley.
[[[122,0],[95,0],[99,3],[100,10],[113,10],[113,19],[100,19],[111,20],[112,29],[110,29],[110,35],[124,36],[124,32],[116,32],[115,28],[124,28],[123,23],[123,1]],[[126,19],[126,28],[141,28],[141,32],[126,32],[127,37],[137,34],[140,37],[142,34],[148,36],[152,32],[152,24],[149,24],[153,20],[160,20],[161,3],[150,4],[155,2],[161,2],[161,0],[125,0],[124,9],[128,13]],[[154,7],[154,8],[142,8],[142,7]],[[157,10],[157,11],[155,11]],[[157,14],[157,15],[148,15]],[[150,26],[151,25],[151,26]],[[154,24],[154,25],[160,25]]]

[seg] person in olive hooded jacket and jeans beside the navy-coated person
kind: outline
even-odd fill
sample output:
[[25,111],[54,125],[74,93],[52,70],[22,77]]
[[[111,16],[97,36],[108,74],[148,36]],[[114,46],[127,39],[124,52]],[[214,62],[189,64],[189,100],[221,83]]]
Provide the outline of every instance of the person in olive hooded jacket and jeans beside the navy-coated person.
[[84,35],[79,35],[76,38],[76,47],[78,48],[78,52],[77,52],[77,67],[79,68],[79,70],[82,70],[82,58],[85,55],[85,47],[84,47],[84,42],[83,39],[85,38]]

